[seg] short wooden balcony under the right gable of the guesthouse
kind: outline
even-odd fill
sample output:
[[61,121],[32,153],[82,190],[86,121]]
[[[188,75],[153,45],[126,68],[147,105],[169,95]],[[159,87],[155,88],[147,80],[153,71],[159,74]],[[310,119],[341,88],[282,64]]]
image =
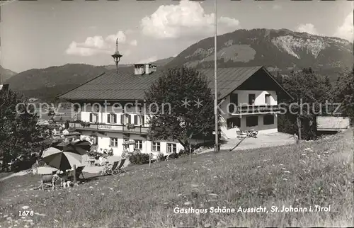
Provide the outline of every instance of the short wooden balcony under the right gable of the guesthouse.
[[261,106],[237,106],[234,111],[229,111],[230,115],[252,115],[252,114],[267,114],[279,113],[279,105],[261,105]]

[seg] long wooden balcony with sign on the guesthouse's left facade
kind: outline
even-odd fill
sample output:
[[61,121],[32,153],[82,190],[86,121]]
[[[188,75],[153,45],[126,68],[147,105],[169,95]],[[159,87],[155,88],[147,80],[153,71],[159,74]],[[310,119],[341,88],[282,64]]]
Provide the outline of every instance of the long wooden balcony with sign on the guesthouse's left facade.
[[144,127],[141,125],[135,126],[133,128],[128,128],[126,125],[112,125],[106,123],[90,123],[89,126],[81,125],[80,122],[69,122],[69,127],[76,130],[92,130],[92,131],[102,131],[102,132],[120,132],[129,134],[141,134],[147,135],[149,127]]

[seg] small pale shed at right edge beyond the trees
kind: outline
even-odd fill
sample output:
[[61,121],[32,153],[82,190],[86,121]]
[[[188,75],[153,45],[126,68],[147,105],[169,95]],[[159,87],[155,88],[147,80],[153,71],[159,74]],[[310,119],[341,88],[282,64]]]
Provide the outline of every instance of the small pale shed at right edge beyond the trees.
[[350,126],[350,118],[341,116],[317,116],[317,131],[341,132]]

